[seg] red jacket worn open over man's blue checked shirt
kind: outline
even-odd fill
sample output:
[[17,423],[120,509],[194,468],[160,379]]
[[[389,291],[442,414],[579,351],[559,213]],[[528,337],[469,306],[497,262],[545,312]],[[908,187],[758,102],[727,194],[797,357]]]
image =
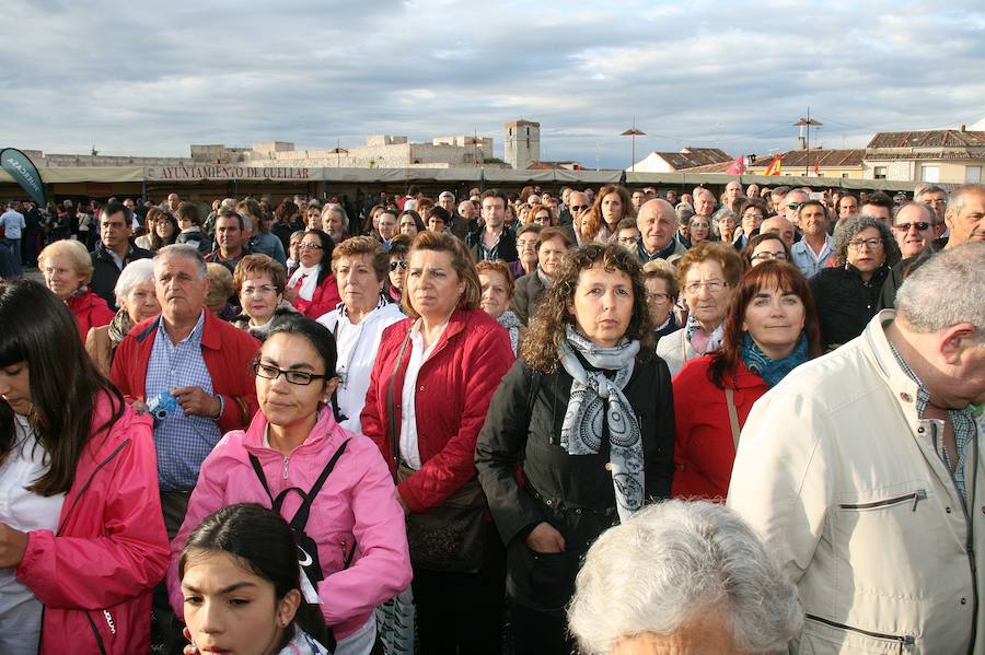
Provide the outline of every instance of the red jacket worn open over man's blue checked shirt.
[[[201,356],[212,378],[212,389],[223,397],[222,416],[217,421],[223,433],[242,430],[250,424],[258,408],[256,383],[250,362],[260,342],[206,309],[201,330]],[[146,400],[147,365],[161,317],[138,323],[116,349],[109,379],[127,402]]]

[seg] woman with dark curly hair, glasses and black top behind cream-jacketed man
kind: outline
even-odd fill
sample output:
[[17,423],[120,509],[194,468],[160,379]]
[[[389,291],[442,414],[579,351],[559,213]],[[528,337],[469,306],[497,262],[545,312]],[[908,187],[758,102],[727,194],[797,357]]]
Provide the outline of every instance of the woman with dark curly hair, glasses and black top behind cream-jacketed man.
[[835,230],[837,266],[811,278],[821,316],[821,342],[834,350],[858,337],[876,315],[882,283],[900,260],[893,233],[872,217],[854,217]]

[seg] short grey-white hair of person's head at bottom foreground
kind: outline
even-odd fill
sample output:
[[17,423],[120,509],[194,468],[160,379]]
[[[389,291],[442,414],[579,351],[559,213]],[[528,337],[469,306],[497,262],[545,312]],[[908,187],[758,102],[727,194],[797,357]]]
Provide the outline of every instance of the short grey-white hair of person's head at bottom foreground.
[[735,513],[675,500],[592,545],[568,624],[581,653],[607,655],[622,638],[673,634],[709,612],[743,653],[786,653],[803,625],[796,585]]

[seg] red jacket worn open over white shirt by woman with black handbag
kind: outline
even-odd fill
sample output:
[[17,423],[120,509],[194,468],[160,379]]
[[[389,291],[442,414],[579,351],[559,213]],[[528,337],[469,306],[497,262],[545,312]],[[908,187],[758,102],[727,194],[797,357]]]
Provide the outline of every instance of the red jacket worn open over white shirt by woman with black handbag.
[[[376,442],[391,471],[396,466],[387,436],[386,390],[412,325],[408,318],[383,330],[361,416],[362,431]],[[397,487],[412,512],[437,507],[476,475],[475,442],[493,394],[513,359],[509,334],[488,314],[482,309],[456,309],[452,314],[417,377],[414,402],[422,466]],[[393,385],[397,431],[409,363],[408,343]]]

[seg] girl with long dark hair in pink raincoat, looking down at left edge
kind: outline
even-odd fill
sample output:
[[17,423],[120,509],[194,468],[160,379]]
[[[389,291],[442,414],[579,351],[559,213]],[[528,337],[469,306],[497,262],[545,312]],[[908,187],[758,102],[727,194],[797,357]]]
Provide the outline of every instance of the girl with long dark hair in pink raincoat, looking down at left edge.
[[35,282],[0,282],[0,653],[147,653],[167,563],[151,422]]

